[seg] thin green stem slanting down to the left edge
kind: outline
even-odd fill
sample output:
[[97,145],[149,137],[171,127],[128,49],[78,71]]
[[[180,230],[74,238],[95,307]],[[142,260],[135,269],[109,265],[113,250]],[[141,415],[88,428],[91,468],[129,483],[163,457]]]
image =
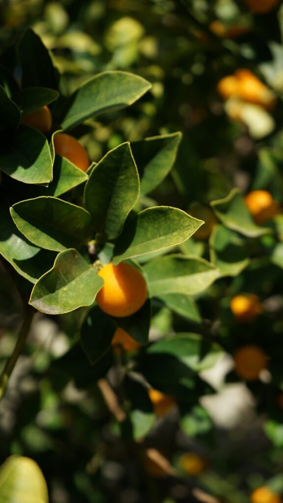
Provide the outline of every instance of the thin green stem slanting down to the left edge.
[[30,331],[31,322],[35,312],[36,311],[34,309],[28,306],[14,351],[12,355],[8,358],[5,367],[0,375],[0,400],[6,391],[9,378],[14,370],[14,367],[18,361],[19,356],[21,355],[24,349]]

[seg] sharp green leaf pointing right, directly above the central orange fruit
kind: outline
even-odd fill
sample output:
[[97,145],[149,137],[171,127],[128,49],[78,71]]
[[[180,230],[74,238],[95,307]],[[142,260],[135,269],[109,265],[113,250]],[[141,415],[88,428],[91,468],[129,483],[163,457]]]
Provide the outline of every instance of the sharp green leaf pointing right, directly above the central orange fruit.
[[114,248],[114,264],[188,239],[201,220],[170,206],[147,208],[125,224]]

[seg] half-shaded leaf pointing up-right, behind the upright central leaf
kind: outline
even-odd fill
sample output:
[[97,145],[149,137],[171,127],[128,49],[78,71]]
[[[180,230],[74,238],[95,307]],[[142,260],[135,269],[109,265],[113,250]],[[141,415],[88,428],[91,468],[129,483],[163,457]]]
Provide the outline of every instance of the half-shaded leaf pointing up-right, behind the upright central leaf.
[[140,177],[140,192],[152,192],[168,175],[176,159],[182,133],[153,136],[131,143]]

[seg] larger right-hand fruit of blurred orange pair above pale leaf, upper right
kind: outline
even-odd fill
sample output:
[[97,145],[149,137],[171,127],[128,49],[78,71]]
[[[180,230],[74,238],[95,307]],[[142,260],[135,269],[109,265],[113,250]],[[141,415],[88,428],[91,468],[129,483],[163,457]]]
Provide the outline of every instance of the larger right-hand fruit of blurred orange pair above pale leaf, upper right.
[[244,101],[270,108],[275,103],[274,93],[248,69],[235,73],[238,79],[238,96]]

